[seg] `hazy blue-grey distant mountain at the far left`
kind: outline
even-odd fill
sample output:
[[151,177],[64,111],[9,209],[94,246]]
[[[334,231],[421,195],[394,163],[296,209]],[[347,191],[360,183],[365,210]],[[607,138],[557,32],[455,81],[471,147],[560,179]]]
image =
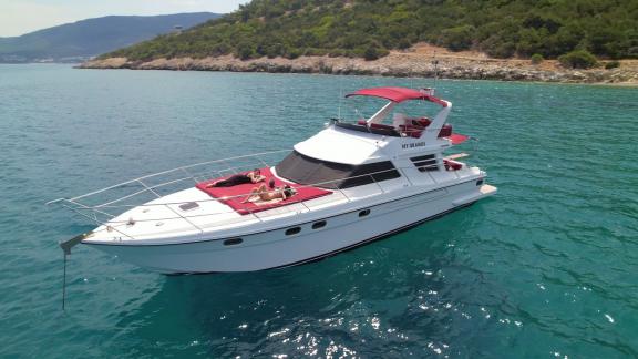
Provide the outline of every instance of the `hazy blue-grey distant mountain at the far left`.
[[210,12],[104,17],[0,38],[1,62],[75,62],[220,17]]

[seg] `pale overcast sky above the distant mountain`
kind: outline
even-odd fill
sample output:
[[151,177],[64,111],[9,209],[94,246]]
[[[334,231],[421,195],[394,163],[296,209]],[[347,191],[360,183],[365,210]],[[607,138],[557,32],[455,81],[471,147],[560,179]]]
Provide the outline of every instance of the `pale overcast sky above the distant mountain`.
[[209,11],[227,13],[249,0],[0,0],[0,37],[105,16]]

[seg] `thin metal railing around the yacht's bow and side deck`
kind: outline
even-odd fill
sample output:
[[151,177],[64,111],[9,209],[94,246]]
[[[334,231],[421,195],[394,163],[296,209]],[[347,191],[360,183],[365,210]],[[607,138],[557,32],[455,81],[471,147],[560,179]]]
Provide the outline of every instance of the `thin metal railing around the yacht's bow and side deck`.
[[[88,194],[83,194],[83,195],[80,195],[76,197],[58,198],[54,201],[50,201],[47,204],[48,205],[52,205],[52,204],[61,205],[61,206],[72,211],[72,212],[81,215],[82,217],[90,219],[91,222],[95,223],[96,225],[104,225],[104,226],[106,226],[106,228],[109,230],[115,230],[115,232],[120,233],[122,236],[128,237],[128,238],[133,238],[133,237],[131,237],[130,235],[127,235],[126,233],[124,233],[122,230],[119,230],[115,227],[115,225],[125,224],[125,223],[128,223],[130,220],[113,220],[113,218],[117,217],[122,213],[124,213],[131,208],[134,208],[134,207],[160,207],[161,206],[161,207],[167,208],[169,212],[175,214],[175,216],[171,216],[171,217],[134,219],[134,223],[183,219],[188,225],[191,225],[194,229],[196,229],[200,233],[204,233],[204,228],[197,226],[193,222],[194,219],[196,219],[197,217],[204,217],[204,216],[209,217],[209,216],[215,216],[215,215],[229,214],[229,213],[234,213],[237,211],[235,211],[230,207],[227,207],[228,211],[223,211],[223,212],[216,212],[216,213],[207,212],[207,213],[199,214],[199,215],[183,215],[178,211],[173,208],[172,206],[184,205],[187,203],[196,203],[199,206],[200,204],[204,204],[207,202],[220,202],[220,201],[229,201],[229,199],[236,199],[236,198],[246,198],[249,195],[249,193],[240,194],[240,195],[236,195],[236,196],[226,196],[224,198],[210,197],[207,199],[199,199],[199,201],[162,202],[162,203],[147,203],[147,202],[152,201],[153,198],[163,197],[163,195],[161,194],[161,192],[162,192],[161,189],[164,189],[164,188],[168,188],[168,191],[171,191],[171,192],[192,188],[193,186],[191,184],[191,181],[193,181],[196,184],[196,183],[199,183],[199,182],[203,182],[206,180],[210,180],[212,177],[227,176],[229,174],[236,174],[239,172],[245,172],[245,171],[255,168],[257,166],[270,167],[270,164],[267,162],[268,158],[271,158],[274,156],[278,156],[279,157],[278,160],[280,160],[282,154],[289,153],[289,152],[290,152],[290,150],[280,150],[280,151],[264,152],[264,153],[258,153],[258,154],[254,154],[254,155],[236,156],[236,157],[230,157],[230,158],[225,158],[225,160],[215,160],[215,161],[202,162],[202,163],[187,165],[187,166],[181,166],[181,167],[176,167],[173,170],[163,171],[163,172],[158,172],[155,174],[137,177],[137,178],[126,181],[126,182],[123,182],[123,183],[120,183],[120,184],[116,184],[113,186],[109,186],[109,187],[97,189],[97,191],[94,191],[94,192],[91,192]],[[236,165],[229,165],[229,162],[236,162],[236,163],[240,162],[240,163],[236,164]],[[219,164],[223,164],[225,166],[222,168],[218,168],[218,167],[216,167],[214,170],[209,168],[210,165],[217,166]],[[410,170],[416,170],[415,167],[409,167],[409,168]],[[387,173],[387,172],[398,171],[401,174],[401,178],[404,178],[412,186],[413,183],[411,182],[410,176],[408,176],[405,174],[404,170],[408,170],[408,168],[407,167],[394,167],[391,170],[379,171],[379,172],[369,173],[369,174],[364,174],[364,175],[350,176],[347,178],[339,178],[339,180],[335,180],[335,181],[313,183],[310,185],[302,185],[302,186],[297,186],[297,187],[298,188],[325,187],[325,186],[330,185],[330,184],[341,183],[344,180],[356,180],[356,178],[361,178],[361,177],[370,177],[372,180],[370,184],[373,183],[377,186],[377,188],[379,189],[379,192],[377,192],[377,194],[383,194],[387,192],[387,189],[374,178],[374,176],[379,175],[379,174]],[[459,174],[456,173],[456,171],[453,171],[453,173],[455,174],[456,178],[459,178]],[[168,177],[175,176],[176,174],[181,174],[181,175],[177,176],[176,178],[161,180],[161,178],[165,178],[166,176],[168,176]],[[432,173],[422,172],[421,174],[426,174],[434,184],[438,183],[438,180],[435,178],[435,176],[432,175]],[[155,181],[157,183],[152,183]],[[188,183],[188,185],[184,185],[185,183]],[[125,189],[131,189],[131,188],[133,188],[133,191],[131,193],[127,193],[124,195],[117,195],[116,197],[111,197],[106,201],[103,201],[104,197],[111,193],[117,193],[119,191],[125,191]],[[352,198],[350,196],[348,196],[348,194],[343,191],[347,188],[341,188],[339,186],[336,186],[336,188],[330,187],[330,189],[333,191],[333,193],[339,193],[339,196],[332,198],[331,201],[346,201],[346,202],[352,201]],[[137,201],[137,203],[135,203],[135,204],[125,203],[132,198],[140,198],[142,196],[144,196],[144,198],[141,201]],[[102,198],[102,201],[97,201],[96,203],[90,203],[91,201],[95,201],[97,198]],[[292,197],[292,198],[295,198],[295,197]],[[281,207],[277,207],[277,208],[284,208],[284,209],[287,209],[288,212],[294,212],[294,213],[301,213],[299,211],[299,207],[298,206],[297,207],[291,206],[292,204],[297,204],[297,205],[302,206],[301,212],[312,211],[311,206],[308,206],[308,204],[306,203],[305,199],[290,201],[290,202],[287,202],[286,206],[281,206]],[[264,215],[260,214],[260,212],[253,212],[248,208],[244,208],[244,209],[248,212],[248,214],[246,214],[246,215],[249,215],[254,219],[259,220],[259,222],[264,220]]]

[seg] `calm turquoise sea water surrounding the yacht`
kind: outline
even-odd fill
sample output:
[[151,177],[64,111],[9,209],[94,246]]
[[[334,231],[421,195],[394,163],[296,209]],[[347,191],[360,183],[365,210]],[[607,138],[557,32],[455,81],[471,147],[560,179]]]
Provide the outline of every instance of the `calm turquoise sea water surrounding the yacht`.
[[323,261],[165,277],[43,203],[279,150],[405,79],[0,66],[1,357],[638,357],[638,90],[441,81],[494,198]]

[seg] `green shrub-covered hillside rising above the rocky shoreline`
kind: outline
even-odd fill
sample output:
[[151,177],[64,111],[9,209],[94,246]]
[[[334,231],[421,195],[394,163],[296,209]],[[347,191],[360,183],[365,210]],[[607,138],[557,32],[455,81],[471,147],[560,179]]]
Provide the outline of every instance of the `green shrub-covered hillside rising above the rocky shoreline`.
[[638,58],[638,1],[253,0],[182,34],[160,35],[103,57],[373,60],[419,41],[496,58],[555,59],[577,50]]

